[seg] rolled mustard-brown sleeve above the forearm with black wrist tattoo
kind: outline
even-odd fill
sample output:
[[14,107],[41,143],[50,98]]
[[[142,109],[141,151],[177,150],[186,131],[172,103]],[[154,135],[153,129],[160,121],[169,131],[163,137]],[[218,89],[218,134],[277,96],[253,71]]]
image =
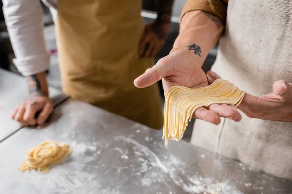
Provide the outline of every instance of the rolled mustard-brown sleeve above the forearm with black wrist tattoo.
[[194,10],[202,10],[218,16],[224,23],[227,17],[228,0],[187,0],[181,18],[185,13]]

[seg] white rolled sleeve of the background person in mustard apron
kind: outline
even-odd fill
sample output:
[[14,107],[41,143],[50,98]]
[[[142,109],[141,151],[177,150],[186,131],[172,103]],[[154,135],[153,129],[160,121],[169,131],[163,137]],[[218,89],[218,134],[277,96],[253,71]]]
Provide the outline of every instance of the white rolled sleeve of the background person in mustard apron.
[[43,10],[39,0],[2,0],[3,12],[11,44],[13,59],[24,76],[45,71],[50,55],[44,39]]

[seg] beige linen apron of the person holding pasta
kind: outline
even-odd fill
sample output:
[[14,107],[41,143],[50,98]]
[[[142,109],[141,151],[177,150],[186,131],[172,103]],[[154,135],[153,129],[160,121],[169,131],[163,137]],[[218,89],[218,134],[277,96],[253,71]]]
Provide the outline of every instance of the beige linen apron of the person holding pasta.
[[[292,1],[229,0],[212,70],[253,95],[292,83]],[[191,143],[267,173],[292,178],[292,123],[251,119],[219,126],[196,120]]]

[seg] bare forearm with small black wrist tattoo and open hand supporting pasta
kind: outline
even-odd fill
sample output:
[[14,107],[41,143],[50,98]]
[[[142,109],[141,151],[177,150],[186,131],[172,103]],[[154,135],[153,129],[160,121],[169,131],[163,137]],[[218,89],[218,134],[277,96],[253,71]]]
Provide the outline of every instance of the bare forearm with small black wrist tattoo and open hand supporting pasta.
[[[174,85],[188,88],[207,86],[208,80],[201,66],[209,51],[218,42],[223,29],[223,23],[216,16],[203,11],[187,12],[181,20],[180,34],[170,54],[138,77],[134,81],[135,86],[147,87],[160,79],[164,93]],[[201,107],[195,111],[193,117],[215,125],[221,122],[220,117],[241,120],[236,108],[219,104]]]

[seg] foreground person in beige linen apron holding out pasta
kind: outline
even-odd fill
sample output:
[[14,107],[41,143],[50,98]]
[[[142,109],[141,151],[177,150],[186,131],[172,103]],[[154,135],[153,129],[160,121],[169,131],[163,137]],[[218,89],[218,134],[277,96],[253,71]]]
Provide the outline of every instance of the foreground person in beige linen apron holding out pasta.
[[[218,75],[234,83],[247,92],[238,107],[244,114],[226,104],[197,109],[191,143],[292,178],[291,15],[291,0],[188,0],[172,51],[134,84],[162,78],[166,93],[207,86]],[[207,79],[201,66],[218,41]]]

